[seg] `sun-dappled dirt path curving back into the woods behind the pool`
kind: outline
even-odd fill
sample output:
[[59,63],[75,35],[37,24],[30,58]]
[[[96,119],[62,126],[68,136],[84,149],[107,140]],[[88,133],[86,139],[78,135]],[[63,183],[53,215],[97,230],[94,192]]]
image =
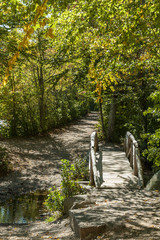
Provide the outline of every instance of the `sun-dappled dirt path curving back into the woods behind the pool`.
[[14,172],[0,179],[0,201],[59,185],[60,160],[86,155],[97,120],[97,112],[91,112],[75,124],[45,137],[1,141],[0,145],[9,150]]

